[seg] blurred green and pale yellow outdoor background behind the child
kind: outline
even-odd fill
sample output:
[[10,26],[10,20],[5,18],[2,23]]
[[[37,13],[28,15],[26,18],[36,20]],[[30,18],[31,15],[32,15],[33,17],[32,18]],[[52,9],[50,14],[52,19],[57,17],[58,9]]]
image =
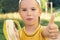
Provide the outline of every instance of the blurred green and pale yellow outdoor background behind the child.
[[[48,12],[45,13],[45,3],[48,2]],[[41,0],[42,14],[40,18],[40,24],[43,26],[48,25],[51,14],[50,14],[50,4],[53,2],[53,13],[56,14],[55,23],[60,29],[60,0]],[[0,40],[6,40],[3,34],[3,24],[7,19],[17,20],[21,27],[24,26],[23,21],[18,13],[19,0],[0,0]]]

